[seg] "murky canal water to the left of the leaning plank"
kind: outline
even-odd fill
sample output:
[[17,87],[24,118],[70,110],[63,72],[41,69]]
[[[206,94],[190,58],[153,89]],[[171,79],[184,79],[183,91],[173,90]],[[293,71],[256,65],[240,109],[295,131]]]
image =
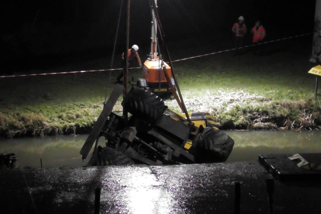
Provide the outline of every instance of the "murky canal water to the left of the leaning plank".
[[[15,153],[19,167],[83,166],[79,151],[87,135],[0,139],[0,153]],[[89,158],[87,158],[87,161]]]

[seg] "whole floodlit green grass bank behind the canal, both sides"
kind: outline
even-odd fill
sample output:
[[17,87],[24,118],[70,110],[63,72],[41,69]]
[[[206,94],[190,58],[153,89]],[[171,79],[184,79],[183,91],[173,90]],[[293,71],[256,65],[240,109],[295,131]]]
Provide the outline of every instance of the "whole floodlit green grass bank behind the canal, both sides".
[[[321,105],[313,93],[315,77],[307,73],[314,66],[308,62],[310,41],[294,44],[266,47],[264,56],[227,52],[175,62],[187,108],[211,112],[222,129],[318,128]],[[105,61],[87,64],[99,67]],[[89,132],[102,110],[107,81],[108,72],[1,78],[0,135]],[[121,110],[120,102],[114,110]],[[166,103],[179,111],[174,101]]]

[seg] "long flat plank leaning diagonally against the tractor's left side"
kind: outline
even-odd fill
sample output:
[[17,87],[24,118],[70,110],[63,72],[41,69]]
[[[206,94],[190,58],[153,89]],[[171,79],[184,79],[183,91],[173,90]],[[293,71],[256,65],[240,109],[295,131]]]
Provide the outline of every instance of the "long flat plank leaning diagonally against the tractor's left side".
[[82,155],[82,160],[87,158],[88,153],[91,150],[92,145],[95,143],[97,137],[100,135],[101,129],[105,125],[105,122],[113,110],[114,105],[116,104],[120,94],[123,92],[123,85],[117,84],[112,91],[107,103],[105,104],[103,110],[101,111],[94,127],[91,129],[89,136],[87,137],[86,142],[83,144],[80,154]]

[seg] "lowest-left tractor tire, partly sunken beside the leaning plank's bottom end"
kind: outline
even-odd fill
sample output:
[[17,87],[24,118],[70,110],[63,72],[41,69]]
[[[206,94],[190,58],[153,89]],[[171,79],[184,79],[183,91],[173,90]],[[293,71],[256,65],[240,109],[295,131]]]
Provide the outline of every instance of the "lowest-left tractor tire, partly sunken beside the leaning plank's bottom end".
[[98,154],[100,166],[132,165],[134,161],[127,155],[110,147],[104,147]]

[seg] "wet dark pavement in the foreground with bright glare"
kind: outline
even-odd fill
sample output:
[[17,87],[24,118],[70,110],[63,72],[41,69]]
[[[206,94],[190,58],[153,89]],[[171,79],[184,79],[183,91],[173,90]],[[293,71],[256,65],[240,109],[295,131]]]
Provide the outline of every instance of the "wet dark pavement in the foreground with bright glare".
[[[0,170],[1,213],[268,213],[258,162]],[[320,213],[321,182],[275,181],[274,213]]]

